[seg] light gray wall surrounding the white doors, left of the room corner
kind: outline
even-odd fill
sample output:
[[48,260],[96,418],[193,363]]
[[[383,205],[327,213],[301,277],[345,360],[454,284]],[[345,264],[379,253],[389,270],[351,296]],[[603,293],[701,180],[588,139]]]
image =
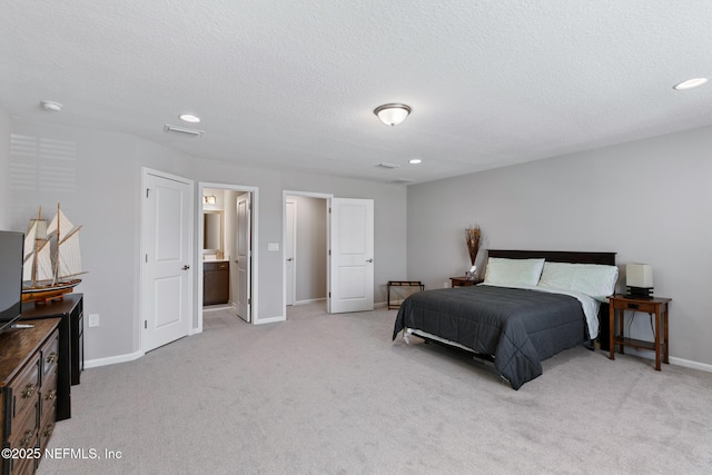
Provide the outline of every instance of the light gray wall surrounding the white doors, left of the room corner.
[[[121,358],[140,353],[140,205],[141,167],[190,178],[197,184],[216,182],[259,188],[259,295],[263,318],[281,317],[283,255],[267,251],[268,243],[281,243],[283,191],[285,189],[334,194],[345,198],[375,200],[375,295],[385,300],[385,285],[393,275],[406,273],[406,189],[400,186],[349,180],[314,174],[249,168],[205,160],[120,133],[103,133],[51,123],[21,121],[0,116],[0,166],[12,158],[3,142],[11,133],[63,140],[76,147],[65,160],[65,175],[33,171],[31,182],[2,174],[0,224],[11,230],[27,230],[29,218],[42,206],[49,215],[60,201],[76,224],[83,224],[82,260],[89,271],[77,291],[85,294],[85,313],[99,314],[100,326],[86,328],[88,360]],[[49,159],[40,158],[37,162]],[[42,164],[39,164],[42,165]],[[61,185],[61,186],[58,186]],[[199,204],[196,204],[196,218]],[[389,219],[397,216],[398,219]],[[197,226],[195,239],[197,243]],[[280,249],[283,246],[280,246]],[[199,256],[199,254],[197,254]],[[196,263],[197,265],[197,263]],[[199,275],[197,273],[196,275]],[[197,277],[196,277],[197,278]]]

